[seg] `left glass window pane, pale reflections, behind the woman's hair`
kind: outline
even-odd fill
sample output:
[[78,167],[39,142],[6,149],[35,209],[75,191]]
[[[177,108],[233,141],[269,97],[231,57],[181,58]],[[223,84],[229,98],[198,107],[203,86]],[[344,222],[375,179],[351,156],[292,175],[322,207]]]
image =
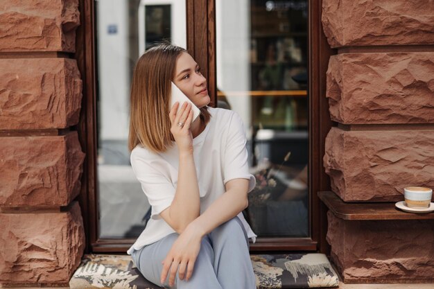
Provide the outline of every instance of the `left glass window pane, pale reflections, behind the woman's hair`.
[[137,238],[146,226],[150,205],[130,166],[128,125],[132,70],[139,55],[155,41],[164,38],[186,47],[185,3],[179,0],[100,0],[95,1],[95,7],[98,234],[100,238]]

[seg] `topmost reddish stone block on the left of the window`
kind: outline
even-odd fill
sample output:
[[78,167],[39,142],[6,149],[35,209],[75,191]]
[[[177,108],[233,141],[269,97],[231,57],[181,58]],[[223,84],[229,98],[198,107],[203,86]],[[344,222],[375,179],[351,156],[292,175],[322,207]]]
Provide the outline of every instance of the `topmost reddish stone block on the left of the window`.
[[0,51],[75,52],[78,0],[0,3]]

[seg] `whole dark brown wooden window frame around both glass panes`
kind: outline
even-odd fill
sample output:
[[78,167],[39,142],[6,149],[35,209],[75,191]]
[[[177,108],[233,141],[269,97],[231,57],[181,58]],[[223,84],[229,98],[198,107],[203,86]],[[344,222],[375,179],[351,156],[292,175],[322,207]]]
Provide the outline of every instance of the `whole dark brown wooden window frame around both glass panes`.
[[[80,122],[76,126],[82,150],[86,153],[78,201],[85,227],[87,253],[122,252],[135,239],[98,238],[98,179],[96,137],[96,26],[94,0],[79,0],[80,26],[76,35],[76,53],[83,79],[83,101]],[[216,104],[216,0],[186,0],[187,49],[195,58],[209,83],[211,106]],[[331,128],[325,98],[326,71],[334,54],[322,32],[322,1],[309,3],[309,228],[310,238],[257,238],[251,252],[313,251],[329,253],[325,240],[327,207],[318,198],[318,191],[330,189],[329,177],[322,166],[324,142]],[[204,17],[205,15],[205,17]],[[207,53],[203,53],[207,51]]]

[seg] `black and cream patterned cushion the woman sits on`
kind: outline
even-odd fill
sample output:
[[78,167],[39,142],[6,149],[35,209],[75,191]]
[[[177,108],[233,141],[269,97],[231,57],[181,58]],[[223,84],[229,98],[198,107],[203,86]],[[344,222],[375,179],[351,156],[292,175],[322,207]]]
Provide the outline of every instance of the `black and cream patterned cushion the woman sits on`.
[[[338,276],[324,254],[250,255],[258,289],[336,287]],[[87,254],[69,281],[71,289],[159,289],[131,256]]]

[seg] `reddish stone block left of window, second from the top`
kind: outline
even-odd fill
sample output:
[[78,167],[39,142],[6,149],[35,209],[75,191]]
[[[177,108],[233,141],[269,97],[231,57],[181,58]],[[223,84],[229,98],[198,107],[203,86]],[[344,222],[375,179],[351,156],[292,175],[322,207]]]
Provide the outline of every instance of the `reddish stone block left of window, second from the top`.
[[0,130],[67,128],[80,116],[76,60],[0,60]]

